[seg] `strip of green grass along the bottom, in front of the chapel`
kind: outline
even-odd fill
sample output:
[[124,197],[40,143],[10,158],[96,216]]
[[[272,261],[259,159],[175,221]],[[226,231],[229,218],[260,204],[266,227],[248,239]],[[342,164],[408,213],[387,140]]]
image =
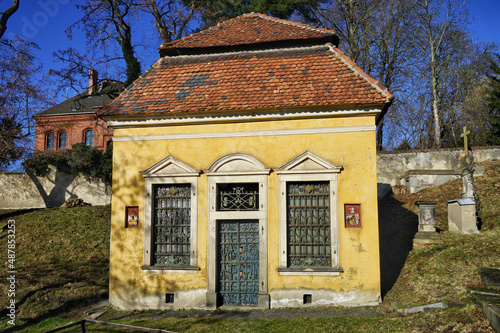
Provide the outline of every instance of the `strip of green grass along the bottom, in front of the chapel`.
[[[213,319],[167,318],[120,320],[120,324],[173,332],[493,332],[476,308],[452,308],[417,315],[378,318]],[[74,330],[75,331],[75,330]],[[107,326],[86,325],[87,332],[127,332]],[[133,332],[133,331],[129,331]]]

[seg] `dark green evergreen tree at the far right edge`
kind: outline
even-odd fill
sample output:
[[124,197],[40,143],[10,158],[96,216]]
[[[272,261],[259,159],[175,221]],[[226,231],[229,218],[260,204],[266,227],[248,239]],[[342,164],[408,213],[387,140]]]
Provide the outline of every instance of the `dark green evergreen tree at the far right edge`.
[[[496,54],[500,62],[500,55]],[[488,109],[490,113],[490,129],[488,131],[488,143],[500,145],[500,65],[499,62],[490,60],[491,74],[488,75]]]

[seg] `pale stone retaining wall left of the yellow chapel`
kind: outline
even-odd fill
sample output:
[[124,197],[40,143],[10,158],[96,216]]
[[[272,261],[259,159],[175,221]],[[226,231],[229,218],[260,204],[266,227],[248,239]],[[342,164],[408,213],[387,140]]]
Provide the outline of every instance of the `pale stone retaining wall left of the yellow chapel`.
[[92,205],[109,205],[111,187],[55,167],[51,167],[46,177],[36,177],[31,172],[0,173],[0,209],[56,207],[69,198],[81,198]]

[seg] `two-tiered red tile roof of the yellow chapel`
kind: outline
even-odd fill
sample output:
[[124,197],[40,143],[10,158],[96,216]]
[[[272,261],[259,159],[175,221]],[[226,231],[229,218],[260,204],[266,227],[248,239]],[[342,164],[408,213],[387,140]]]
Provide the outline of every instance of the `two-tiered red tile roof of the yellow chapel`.
[[[200,47],[222,40],[222,36],[227,36],[224,43],[229,43],[229,40],[243,43],[243,35],[253,40],[254,33],[257,34],[257,28],[253,26],[256,21],[260,22],[258,29],[266,40],[279,38],[273,35],[273,31],[278,31],[277,35],[280,35],[289,27],[294,30],[290,34],[297,36],[299,29],[304,36],[313,39],[317,34],[332,33],[260,14],[249,14],[199,33],[204,37],[211,36],[213,41],[208,37],[198,40],[195,34],[174,44]],[[247,24],[252,28],[248,28]],[[224,27],[230,31],[225,31]],[[240,33],[232,33],[233,29]],[[285,48],[281,45],[265,50],[165,56],[101,110],[100,115],[384,105],[392,99],[391,93],[342,51],[323,42],[305,47],[294,45]]]

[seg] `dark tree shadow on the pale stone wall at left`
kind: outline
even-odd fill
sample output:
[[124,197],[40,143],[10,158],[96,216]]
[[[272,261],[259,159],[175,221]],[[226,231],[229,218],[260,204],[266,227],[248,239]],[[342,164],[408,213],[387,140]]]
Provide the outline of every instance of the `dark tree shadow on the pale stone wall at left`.
[[[68,187],[73,181],[73,177],[70,173],[66,173],[64,171],[61,171],[59,168],[55,168],[54,180],[50,181],[54,184],[54,187],[50,190],[50,193],[47,193],[47,191],[45,191],[45,188],[40,180],[33,174],[30,169],[26,169],[26,174],[33,181],[33,184],[35,184],[38,192],[40,193],[40,196],[43,199],[43,202],[45,203],[45,207],[59,207],[64,203],[64,201],[66,201],[66,192],[68,191]],[[49,180],[52,174],[53,172],[51,172],[49,176],[46,177],[46,179]],[[77,198],[77,196],[72,193],[69,198]]]

